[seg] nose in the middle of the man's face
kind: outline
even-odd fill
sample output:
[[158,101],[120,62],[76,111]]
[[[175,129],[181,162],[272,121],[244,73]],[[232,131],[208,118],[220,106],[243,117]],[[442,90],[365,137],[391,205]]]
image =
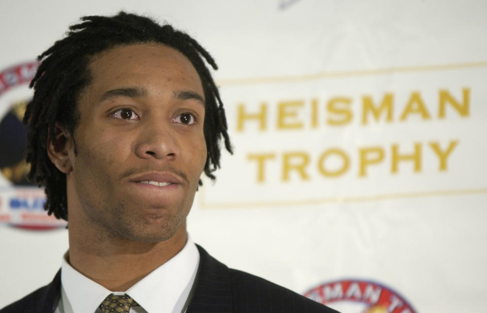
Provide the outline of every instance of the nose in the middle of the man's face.
[[174,160],[179,156],[176,134],[170,125],[160,121],[147,121],[135,147],[135,154],[142,159]]

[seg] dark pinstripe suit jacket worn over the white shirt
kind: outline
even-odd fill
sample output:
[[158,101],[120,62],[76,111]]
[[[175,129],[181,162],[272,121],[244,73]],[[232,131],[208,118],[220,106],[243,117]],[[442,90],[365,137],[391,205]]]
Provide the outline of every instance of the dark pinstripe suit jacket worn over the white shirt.
[[[228,268],[203,248],[197,247],[200,262],[187,313],[337,313],[291,290],[246,272]],[[0,313],[52,313],[60,288],[61,270],[49,285],[4,307]]]

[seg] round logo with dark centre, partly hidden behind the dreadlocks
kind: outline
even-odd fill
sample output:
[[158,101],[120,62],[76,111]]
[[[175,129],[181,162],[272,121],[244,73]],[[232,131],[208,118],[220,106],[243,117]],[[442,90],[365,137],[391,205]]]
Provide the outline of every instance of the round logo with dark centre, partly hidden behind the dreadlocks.
[[28,84],[38,62],[0,71],[0,223],[25,229],[64,227],[64,221],[44,211],[44,191],[26,179],[27,129],[22,124],[31,91]]

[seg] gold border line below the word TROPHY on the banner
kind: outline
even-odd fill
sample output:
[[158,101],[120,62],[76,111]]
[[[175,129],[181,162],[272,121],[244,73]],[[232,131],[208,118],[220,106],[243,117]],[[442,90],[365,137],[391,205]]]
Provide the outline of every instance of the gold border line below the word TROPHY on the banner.
[[389,194],[364,195],[358,197],[328,197],[323,199],[291,200],[291,201],[241,201],[241,202],[227,202],[227,203],[225,202],[206,203],[204,199],[205,188],[201,188],[201,189],[203,190],[201,190],[201,197],[199,197],[199,206],[205,209],[291,207],[291,206],[318,205],[318,204],[363,203],[363,202],[374,202],[374,201],[381,201],[381,200],[412,199],[412,198],[438,197],[438,196],[449,196],[449,195],[487,194],[487,188],[479,188],[479,189],[456,189],[456,190],[389,193]]

